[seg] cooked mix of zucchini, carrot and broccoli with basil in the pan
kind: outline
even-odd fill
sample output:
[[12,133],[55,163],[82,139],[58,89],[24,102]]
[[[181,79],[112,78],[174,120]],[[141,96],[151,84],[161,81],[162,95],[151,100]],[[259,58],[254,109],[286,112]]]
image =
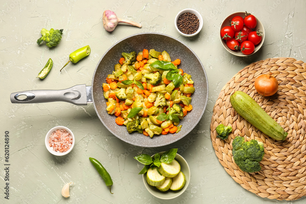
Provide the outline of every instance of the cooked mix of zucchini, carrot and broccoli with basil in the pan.
[[126,125],[129,133],[178,133],[195,91],[191,75],[177,67],[181,60],[171,61],[166,51],[154,49],[121,55],[102,86],[107,113],[117,116],[116,124]]

